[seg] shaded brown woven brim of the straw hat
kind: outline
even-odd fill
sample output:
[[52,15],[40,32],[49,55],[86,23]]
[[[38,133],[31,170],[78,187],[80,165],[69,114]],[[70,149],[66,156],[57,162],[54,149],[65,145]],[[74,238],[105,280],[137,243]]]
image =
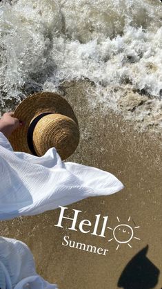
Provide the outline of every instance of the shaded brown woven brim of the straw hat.
[[70,104],[57,93],[41,92],[26,97],[15,109],[14,118],[25,122],[23,126],[12,131],[9,141],[14,151],[23,151],[32,154],[28,146],[28,128],[30,123],[41,113],[59,113],[78,121]]

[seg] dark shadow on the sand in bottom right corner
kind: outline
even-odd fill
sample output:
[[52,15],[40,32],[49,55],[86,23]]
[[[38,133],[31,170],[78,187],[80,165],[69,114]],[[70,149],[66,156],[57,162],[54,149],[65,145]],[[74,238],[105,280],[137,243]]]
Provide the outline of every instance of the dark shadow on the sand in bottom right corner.
[[124,268],[118,287],[124,289],[150,289],[156,286],[159,269],[145,256],[148,245],[139,251]]

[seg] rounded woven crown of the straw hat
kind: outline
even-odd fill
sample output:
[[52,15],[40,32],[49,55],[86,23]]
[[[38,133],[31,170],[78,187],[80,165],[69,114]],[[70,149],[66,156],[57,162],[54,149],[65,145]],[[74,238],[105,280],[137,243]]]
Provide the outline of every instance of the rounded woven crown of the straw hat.
[[66,115],[43,113],[34,126],[32,144],[37,156],[43,156],[48,149],[55,147],[61,159],[65,160],[79,144],[78,124]]

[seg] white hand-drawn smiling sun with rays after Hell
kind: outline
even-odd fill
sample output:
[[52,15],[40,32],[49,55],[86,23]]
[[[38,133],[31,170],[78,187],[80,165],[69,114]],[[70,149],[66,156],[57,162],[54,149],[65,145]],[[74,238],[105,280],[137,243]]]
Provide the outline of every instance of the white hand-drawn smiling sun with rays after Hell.
[[[121,223],[118,216],[117,221]],[[128,222],[130,222],[130,217],[128,218]],[[114,229],[112,229],[112,227],[108,227],[108,229],[113,231],[114,236],[114,238],[108,240],[108,242],[115,240],[118,243],[116,250],[119,249],[120,244],[128,244],[128,246],[132,248],[132,246],[130,245],[130,241],[132,240],[132,238],[140,240],[139,238],[134,236],[134,229],[135,230],[139,229],[139,226],[132,228],[128,224],[119,224],[116,227],[114,227]]]

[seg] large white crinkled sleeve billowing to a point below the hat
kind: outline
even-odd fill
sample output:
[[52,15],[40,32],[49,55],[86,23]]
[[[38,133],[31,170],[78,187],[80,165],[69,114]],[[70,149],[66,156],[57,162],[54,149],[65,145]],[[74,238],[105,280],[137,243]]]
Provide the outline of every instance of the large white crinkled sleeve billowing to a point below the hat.
[[123,184],[114,175],[63,162],[54,147],[41,157],[13,151],[0,132],[0,220],[40,214],[121,189]]

